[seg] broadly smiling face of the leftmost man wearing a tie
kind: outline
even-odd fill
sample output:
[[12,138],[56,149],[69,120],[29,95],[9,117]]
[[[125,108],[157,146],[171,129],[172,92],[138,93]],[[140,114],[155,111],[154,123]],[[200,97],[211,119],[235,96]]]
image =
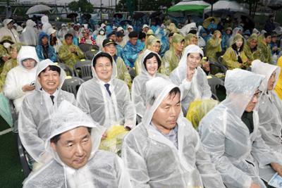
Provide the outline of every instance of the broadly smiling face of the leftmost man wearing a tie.
[[50,68],[47,67],[45,72],[39,74],[38,80],[45,92],[54,94],[60,84],[60,75],[57,71],[50,70]]

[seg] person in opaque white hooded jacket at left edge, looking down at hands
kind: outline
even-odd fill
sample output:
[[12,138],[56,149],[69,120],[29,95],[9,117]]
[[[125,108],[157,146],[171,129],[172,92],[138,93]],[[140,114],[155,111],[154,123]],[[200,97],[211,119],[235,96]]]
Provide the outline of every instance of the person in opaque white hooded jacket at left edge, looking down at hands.
[[32,93],[39,59],[35,47],[22,46],[18,53],[18,66],[12,68],[6,77],[4,95],[13,100],[16,113],[20,111],[25,96]]

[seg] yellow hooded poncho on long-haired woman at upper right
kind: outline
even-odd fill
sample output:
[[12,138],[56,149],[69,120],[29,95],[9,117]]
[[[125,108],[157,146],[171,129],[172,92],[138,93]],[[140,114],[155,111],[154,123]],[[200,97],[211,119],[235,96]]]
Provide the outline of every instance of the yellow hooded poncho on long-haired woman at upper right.
[[[235,35],[235,37],[233,38],[233,43],[231,44],[231,46],[226,50],[225,54],[223,55],[223,64],[226,65],[229,70],[234,69],[234,68],[242,68],[243,66],[247,65],[247,56],[245,56],[244,51],[242,50],[239,52],[240,58],[242,60],[242,63],[239,63],[238,62],[239,54],[237,54],[236,51],[232,47],[233,44],[235,44],[235,42],[238,39],[243,39],[242,35],[240,34]],[[242,46],[241,48],[243,47],[244,46]]]

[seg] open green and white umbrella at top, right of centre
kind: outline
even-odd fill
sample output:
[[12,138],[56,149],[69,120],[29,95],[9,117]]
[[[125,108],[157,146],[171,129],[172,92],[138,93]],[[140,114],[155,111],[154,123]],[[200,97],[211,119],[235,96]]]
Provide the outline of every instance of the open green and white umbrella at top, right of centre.
[[168,12],[178,12],[178,11],[197,11],[201,12],[204,8],[207,8],[211,4],[205,1],[180,1],[178,4],[168,8]]

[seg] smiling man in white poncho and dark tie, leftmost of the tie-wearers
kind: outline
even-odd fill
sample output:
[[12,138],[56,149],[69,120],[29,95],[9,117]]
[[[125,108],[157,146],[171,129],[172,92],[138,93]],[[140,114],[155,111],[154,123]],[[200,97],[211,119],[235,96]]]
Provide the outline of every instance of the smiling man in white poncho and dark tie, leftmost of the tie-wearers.
[[44,148],[51,130],[51,115],[63,100],[72,104],[76,101],[73,94],[61,90],[66,73],[51,60],[39,62],[35,77],[35,91],[23,100],[18,132],[27,153],[37,163],[44,164],[51,158]]

